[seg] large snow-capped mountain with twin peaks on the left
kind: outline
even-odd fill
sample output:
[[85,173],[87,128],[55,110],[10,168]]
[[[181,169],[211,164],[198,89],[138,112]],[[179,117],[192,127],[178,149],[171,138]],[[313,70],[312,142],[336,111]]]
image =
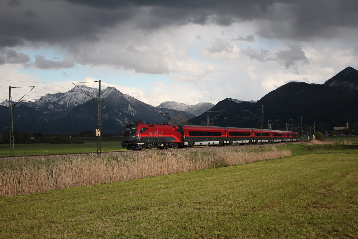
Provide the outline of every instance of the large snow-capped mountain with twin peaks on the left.
[[[13,107],[14,130],[43,134],[75,134],[95,130],[98,121],[98,89],[79,86],[65,93],[47,94],[38,101],[19,102]],[[95,99],[93,99],[95,98]],[[9,115],[9,101],[1,103],[1,115]],[[134,120],[151,123],[166,121],[161,113],[184,114],[188,119],[195,115],[172,109],[156,108],[123,94],[114,87],[102,90],[102,132],[122,132]],[[0,119],[0,131],[9,130],[9,118]]]

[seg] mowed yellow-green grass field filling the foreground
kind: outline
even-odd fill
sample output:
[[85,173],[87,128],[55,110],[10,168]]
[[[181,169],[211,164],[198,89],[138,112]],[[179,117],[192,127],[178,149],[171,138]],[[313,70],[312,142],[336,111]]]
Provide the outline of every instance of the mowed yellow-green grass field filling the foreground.
[[0,235],[356,238],[357,159],[358,154],[305,154],[4,197]]

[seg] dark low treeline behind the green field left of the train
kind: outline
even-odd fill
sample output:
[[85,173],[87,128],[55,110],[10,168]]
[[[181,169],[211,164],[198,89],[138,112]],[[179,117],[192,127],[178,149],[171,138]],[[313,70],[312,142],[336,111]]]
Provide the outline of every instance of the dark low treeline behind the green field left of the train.
[[[120,136],[119,134],[102,134],[102,137]],[[95,132],[90,130],[84,130],[73,135],[65,134],[50,134],[43,135],[41,132],[25,132],[20,134],[16,130],[14,131],[14,143],[15,144],[33,144],[33,143],[50,143],[50,144],[83,144],[84,141],[81,138],[96,137]],[[0,132],[0,144],[10,144],[10,132]]]

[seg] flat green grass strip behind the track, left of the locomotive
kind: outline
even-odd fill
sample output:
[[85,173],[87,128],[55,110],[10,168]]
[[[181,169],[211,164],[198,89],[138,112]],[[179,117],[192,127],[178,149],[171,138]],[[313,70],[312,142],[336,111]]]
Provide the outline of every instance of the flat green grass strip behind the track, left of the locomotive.
[[[120,140],[102,141],[102,152],[126,150]],[[97,152],[97,141],[86,141],[84,144],[15,144],[15,156],[62,154],[62,153],[93,153]],[[0,157],[10,156],[10,144],[0,144]]]

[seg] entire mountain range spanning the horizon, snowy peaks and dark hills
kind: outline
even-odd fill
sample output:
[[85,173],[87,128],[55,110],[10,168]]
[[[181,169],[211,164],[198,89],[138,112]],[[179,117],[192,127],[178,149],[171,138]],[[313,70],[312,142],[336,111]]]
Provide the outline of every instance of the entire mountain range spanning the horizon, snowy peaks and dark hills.
[[[91,97],[74,87],[68,92],[46,94],[39,101],[22,101],[17,104],[13,107],[14,130],[43,134],[74,134],[94,130],[98,120],[98,102],[95,100],[98,98],[98,89],[82,85],[79,87],[87,90]],[[8,100],[1,103],[2,115],[9,115],[8,105]],[[159,105],[165,107],[154,107],[118,91],[115,87],[107,87],[102,91],[102,132],[122,132],[124,126],[134,120],[164,122],[166,119],[160,116],[161,113],[184,115],[195,125],[207,124],[207,109],[213,125],[259,128],[262,105],[265,120],[297,121],[303,116],[304,123],[316,122],[322,129],[345,125],[346,122],[350,122],[350,125],[358,124],[358,71],[347,67],[324,84],[289,82],[257,102],[226,98],[216,105],[207,102],[186,105],[166,101]],[[196,116],[169,109],[170,107],[183,110],[196,108],[202,113]],[[8,121],[6,117],[0,118],[0,130],[9,130]]]

